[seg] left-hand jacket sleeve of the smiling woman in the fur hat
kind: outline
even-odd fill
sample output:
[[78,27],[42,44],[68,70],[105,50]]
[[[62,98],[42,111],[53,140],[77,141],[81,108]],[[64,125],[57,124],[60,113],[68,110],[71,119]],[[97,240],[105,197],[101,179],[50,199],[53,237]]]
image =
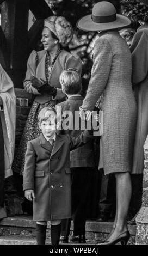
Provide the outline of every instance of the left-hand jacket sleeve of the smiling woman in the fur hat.
[[36,51],[32,51],[32,53],[30,54],[30,56],[28,58],[27,72],[26,72],[26,77],[25,77],[24,83],[23,83],[24,89],[28,93],[33,93],[35,95],[39,95],[40,93],[33,86],[28,85],[27,81],[30,80],[30,77],[36,76],[37,60],[38,60],[38,53]]

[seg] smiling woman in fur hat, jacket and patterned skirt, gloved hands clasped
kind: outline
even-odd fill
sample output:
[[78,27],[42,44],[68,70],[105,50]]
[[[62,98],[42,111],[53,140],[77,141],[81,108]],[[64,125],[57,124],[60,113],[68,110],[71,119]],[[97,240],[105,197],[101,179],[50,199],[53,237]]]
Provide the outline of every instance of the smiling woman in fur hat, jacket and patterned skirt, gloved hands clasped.
[[35,96],[24,127],[13,169],[23,173],[27,142],[39,136],[38,113],[41,108],[54,106],[65,99],[59,76],[61,71],[73,68],[81,74],[82,62],[78,56],[64,50],[73,36],[71,24],[62,16],[50,16],[44,21],[41,42],[44,50],[33,51],[28,59],[24,89]]

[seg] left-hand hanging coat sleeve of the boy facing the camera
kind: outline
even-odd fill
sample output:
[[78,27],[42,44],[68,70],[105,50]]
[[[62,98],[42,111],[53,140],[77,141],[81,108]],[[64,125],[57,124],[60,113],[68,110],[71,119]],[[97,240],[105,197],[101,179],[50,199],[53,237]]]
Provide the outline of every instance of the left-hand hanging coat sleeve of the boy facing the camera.
[[27,143],[23,174],[23,190],[34,190],[35,151],[32,143]]

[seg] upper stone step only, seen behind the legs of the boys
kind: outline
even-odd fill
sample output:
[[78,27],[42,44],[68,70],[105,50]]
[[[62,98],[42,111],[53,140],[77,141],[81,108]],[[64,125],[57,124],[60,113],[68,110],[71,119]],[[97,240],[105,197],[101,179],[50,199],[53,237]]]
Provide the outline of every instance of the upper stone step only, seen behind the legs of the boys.
[[[3,220],[0,221],[0,226],[35,228],[36,224],[30,216],[15,216],[3,218]],[[112,226],[113,222],[97,222],[95,220],[87,220],[85,229],[86,232],[110,233]],[[50,222],[48,222],[47,228],[50,229]],[[128,225],[128,229],[131,235],[135,235],[136,225]],[[73,222],[71,223],[71,230],[73,230]]]

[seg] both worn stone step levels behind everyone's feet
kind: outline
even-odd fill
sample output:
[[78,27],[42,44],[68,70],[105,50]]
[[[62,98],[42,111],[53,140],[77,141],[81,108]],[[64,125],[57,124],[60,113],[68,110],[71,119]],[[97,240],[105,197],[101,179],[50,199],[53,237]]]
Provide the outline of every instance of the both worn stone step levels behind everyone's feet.
[[[3,218],[0,221],[0,238],[2,236],[12,237],[19,236],[20,239],[26,241],[26,239],[35,239],[35,227],[36,223],[32,220],[31,216],[14,216]],[[113,222],[97,222],[95,220],[88,220],[85,225],[86,240],[87,243],[101,242],[106,239],[110,231],[112,230]],[[131,238],[129,244],[135,243],[135,225],[128,225]],[[70,235],[73,231],[73,222],[71,223]],[[50,239],[50,222],[47,224],[47,239]]]

